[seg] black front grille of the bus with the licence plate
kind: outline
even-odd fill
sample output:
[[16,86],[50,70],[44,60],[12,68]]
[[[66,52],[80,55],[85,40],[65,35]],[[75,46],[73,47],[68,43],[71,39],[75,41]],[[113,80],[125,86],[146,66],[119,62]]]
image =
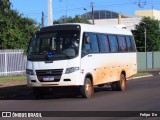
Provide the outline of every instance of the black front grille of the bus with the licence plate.
[[[49,70],[36,70],[37,78],[40,82],[59,82],[62,76],[63,69],[49,69]],[[54,78],[45,79],[45,78]]]

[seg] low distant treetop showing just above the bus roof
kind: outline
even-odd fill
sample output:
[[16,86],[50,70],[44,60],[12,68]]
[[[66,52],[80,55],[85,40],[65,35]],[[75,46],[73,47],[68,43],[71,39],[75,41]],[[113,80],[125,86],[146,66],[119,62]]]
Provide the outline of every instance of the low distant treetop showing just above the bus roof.
[[62,16],[60,19],[53,22],[53,24],[60,24],[60,23],[87,23],[87,24],[90,24],[90,22],[87,19],[82,18],[78,15],[76,15],[74,18],[72,17],[66,18],[65,16]]

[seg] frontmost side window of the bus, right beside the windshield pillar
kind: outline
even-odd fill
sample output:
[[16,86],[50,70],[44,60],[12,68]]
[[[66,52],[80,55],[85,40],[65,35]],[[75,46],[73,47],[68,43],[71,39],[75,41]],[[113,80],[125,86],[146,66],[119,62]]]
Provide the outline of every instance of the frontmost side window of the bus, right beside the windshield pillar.
[[91,40],[90,36],[87,33],[83,35],[83,43],[82,43],[82,54],[86,55],[91,52]]

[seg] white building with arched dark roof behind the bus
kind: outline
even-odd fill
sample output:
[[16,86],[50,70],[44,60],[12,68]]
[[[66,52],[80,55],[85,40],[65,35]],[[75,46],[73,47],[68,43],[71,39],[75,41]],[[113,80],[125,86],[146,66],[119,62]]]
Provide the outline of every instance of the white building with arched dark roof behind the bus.
[[[120,15],[120,17],[119,17]],[[82,15],[92,22],[92,12],[88,12]],[[119,18],[119,20],[118,20]],[[135,25],[141,21],[142,17],[117,13],[108,10],[96,10],[94,11],[94,23],[95,25],[118,25],[123,24],[127,29],[135,29]]]

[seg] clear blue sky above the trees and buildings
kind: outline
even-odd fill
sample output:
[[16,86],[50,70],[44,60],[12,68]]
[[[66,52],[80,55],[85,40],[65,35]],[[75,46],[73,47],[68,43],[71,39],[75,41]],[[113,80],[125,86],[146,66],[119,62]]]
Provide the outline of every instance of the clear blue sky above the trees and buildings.
[[[42,11],[45,15],[45,24],[48,17],[48,0],[10,0],[12,9],[17,10],[24,17],[41,22]],[[160,0],[52,0],[53,20],[62,16],[82,15],[91,11],[91,2],[94,10],[110,10],[123,14],[134,15],[135,10],[160,10]],[[84,10],[86,9],[86,11]]]

